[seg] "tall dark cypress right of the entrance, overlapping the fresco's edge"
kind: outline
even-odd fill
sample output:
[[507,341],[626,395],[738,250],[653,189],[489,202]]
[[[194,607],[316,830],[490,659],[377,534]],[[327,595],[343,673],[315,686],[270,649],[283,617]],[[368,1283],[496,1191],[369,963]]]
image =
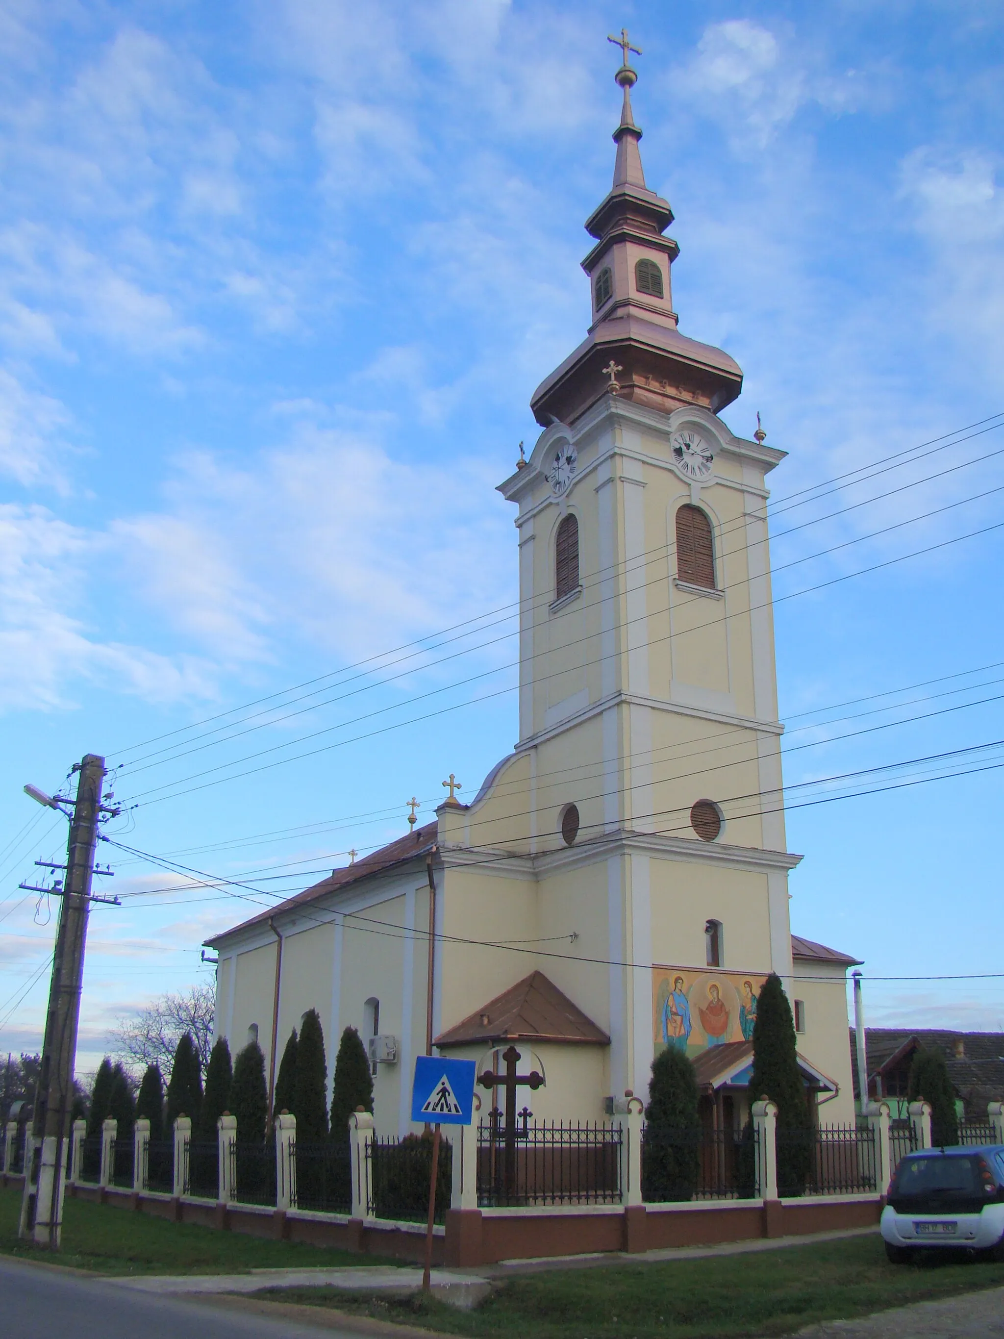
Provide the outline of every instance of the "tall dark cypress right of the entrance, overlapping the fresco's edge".
[[809,1103],[795,1052],[795,1020],[771,972],[756,1000],[750,1102],[768,1098],[778,1107],[778,1193],[802,1194],[813,1165]]

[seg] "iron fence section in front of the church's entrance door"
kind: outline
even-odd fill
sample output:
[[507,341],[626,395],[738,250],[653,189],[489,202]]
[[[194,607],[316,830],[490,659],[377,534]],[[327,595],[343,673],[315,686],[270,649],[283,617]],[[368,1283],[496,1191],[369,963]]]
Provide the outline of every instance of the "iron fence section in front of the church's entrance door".
[[756,1194],[759,1130],[641,1131],[641,1196],[648,1202],[748,1200]]

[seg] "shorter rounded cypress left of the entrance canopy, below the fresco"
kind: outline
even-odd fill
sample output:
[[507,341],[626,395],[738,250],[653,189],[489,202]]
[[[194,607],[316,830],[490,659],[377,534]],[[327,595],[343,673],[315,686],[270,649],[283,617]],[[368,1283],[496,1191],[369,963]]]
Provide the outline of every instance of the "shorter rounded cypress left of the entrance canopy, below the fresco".
[[675,1046],[652,1062],[645,1107],[645,1200],[689,1200],[697,1185],[700,1121],[693,1066]]

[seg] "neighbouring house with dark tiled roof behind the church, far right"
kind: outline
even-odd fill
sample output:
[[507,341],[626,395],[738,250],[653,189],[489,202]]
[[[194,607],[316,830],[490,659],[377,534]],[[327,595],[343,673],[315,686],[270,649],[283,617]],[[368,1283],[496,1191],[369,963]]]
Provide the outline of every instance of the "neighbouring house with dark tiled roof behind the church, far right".
[[[910,1063],[921,1047],[945,1056],[960,1115],[985,1121],[987,1103],[1004,1101],[1004,1032],[949,1032],[944,1028],[865,1028],[867,1094],[889,1102],[893,1118],[905,1117]],[[858,1048],[850,1032],[854,1103],[859,1107]]]

